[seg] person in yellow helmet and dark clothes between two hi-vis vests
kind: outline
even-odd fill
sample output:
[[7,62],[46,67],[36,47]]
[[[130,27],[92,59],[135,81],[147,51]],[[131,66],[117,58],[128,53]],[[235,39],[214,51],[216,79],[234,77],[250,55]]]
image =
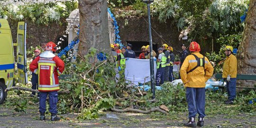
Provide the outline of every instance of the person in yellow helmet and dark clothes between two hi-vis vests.
[[168,45],[163,44],[162,48],[164,49],[163,53],[167,57],[166,64],[165,64],[165,82],[169,82],[169,69],[170,69],[170,54],[168,51]]

